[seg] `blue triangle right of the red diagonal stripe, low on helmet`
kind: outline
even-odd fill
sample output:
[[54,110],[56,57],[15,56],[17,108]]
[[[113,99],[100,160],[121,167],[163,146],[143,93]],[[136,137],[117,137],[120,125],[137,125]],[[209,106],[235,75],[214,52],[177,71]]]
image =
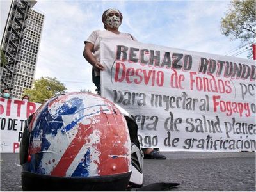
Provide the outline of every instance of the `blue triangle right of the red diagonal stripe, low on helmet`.
[[84,154],[83,159],[77,165],[77,168],[72,174],[72,177],[88,177],[89,166],[90,166],[90,148],[86,151],[86,154]]

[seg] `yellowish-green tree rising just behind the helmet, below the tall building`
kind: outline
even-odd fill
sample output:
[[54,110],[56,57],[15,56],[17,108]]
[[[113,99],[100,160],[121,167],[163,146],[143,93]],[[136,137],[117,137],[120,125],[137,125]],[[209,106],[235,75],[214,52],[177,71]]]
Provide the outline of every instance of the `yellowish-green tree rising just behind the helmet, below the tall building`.
[[41,77],[35,80],[31,89],[26,89],[24,95],[29,95],[31,102],[44,102],[59,93],[64,93],[67,88],[65,84],[60,83],[56,78]]

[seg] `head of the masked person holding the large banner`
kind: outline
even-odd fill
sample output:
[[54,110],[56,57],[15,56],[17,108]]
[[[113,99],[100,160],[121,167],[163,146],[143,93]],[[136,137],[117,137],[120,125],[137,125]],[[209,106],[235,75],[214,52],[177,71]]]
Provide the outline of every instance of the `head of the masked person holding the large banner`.
[[123,15],[119,10],[110,8],[102,14],[104,28],[118,29],[123,20]]

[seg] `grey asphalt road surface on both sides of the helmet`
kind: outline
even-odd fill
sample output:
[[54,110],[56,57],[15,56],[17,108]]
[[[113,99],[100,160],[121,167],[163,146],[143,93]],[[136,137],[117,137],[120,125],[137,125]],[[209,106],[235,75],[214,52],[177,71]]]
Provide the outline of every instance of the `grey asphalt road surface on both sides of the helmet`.
[[[255,191],[255,152],[163,152],[145,159],[144,186],[178,182],[171,191]],[[1,154],[1,191],[22,191],[19,154]]]

